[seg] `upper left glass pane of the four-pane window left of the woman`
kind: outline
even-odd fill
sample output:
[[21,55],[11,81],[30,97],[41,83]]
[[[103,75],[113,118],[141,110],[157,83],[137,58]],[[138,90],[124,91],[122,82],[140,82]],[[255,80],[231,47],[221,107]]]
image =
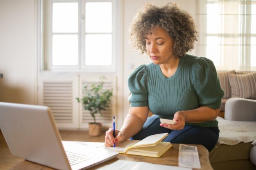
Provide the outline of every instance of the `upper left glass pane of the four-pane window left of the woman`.
[[77,3],[53,3],[53,32],[77,32]]

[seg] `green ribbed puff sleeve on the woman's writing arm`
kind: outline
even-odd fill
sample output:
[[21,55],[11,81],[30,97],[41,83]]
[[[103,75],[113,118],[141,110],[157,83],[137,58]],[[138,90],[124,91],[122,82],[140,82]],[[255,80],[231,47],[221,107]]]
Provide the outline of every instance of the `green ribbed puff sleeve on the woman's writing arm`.
[[128,99],[131,107],[148,106],[146,65],[139,66],[131,73],[128,77],[128,87],[131,92]]

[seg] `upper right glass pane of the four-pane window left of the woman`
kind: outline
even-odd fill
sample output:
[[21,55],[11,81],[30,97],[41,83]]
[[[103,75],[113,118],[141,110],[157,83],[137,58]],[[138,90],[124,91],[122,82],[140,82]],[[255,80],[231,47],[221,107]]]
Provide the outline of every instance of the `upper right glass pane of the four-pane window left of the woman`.
[[112,3],[86,3],[86,32],[112,31]]

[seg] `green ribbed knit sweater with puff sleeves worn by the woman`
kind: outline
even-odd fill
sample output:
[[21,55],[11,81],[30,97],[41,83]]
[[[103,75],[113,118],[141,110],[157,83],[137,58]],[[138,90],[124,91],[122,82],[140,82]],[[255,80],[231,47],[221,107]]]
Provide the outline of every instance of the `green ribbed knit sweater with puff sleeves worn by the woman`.
[[[173,119],[177,111],[200,106],[218,109],[224,95],[213,62],[192,55],[181,57],[175,74],[169,78],[159,65],[141,65],[129,76],[128,86],[131,107],[148,106],[153,114],[167,119]],[[218,127],[218,121],[186,125]]]

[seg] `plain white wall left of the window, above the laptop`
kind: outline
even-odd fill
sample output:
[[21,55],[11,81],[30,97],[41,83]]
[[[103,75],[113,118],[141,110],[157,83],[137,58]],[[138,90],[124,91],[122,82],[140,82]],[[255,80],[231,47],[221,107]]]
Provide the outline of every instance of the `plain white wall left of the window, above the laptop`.
[[0,0],[0,102],[36,102],[34,0]]

